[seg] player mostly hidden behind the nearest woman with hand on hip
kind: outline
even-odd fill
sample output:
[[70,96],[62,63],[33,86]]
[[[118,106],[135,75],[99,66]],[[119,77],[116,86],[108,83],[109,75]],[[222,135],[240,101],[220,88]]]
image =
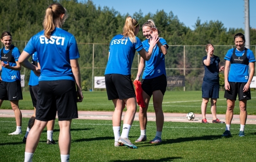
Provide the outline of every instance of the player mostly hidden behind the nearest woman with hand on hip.
[[[39,64],[38,58],[37,58],[37,52],[35,52],[32,55],[31,63],[40,68],[40,64]],[[30,119],[28,121],[28,128],[27,128],[26,134],[23,138],[24,143],[26,143],[28,133],[35,123],[36,106],[37,106],[37,92],[39,89],[38,78],[39,77],[37,77],[35,75],[35,73],[31,70],[28,85],[29,85],[29,92],[30,92],[30,96],[32,99],[33,107],[34,107],[34,114],[32,115],[32,117],[30,117]],[[46,141],[47,144],[55,144],[56,143],[52,139],[54,122],[55,122],[55,120],[51,120],[51,121],[48,121],[48,123],[47,123],[47,141]]]

